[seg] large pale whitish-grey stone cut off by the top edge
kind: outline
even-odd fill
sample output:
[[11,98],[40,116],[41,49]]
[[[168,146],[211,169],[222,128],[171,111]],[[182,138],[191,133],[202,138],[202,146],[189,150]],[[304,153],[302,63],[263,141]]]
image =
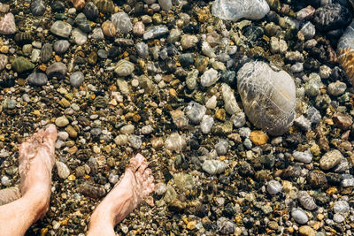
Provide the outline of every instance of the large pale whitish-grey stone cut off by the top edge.
[[269,12],[266,0],[216,0],[212,3],[212,15],[219,19],[262,19]]

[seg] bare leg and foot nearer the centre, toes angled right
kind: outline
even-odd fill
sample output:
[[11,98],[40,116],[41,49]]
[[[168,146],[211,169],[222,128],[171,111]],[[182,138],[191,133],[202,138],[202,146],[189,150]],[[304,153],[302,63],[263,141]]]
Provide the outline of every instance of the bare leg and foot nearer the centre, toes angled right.
[[124,177],[97,206],[89,222],[88,236],[115,235],[114,226],[154,190],[154,178],[140,154],[130,160]]

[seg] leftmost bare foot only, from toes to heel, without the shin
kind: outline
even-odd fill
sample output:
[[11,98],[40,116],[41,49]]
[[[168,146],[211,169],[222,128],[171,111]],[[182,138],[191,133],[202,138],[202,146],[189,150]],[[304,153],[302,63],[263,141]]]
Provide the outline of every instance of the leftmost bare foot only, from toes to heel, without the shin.
[[50,202],[51,170],[55,162],[57,128],[48,126],[35,133],[19,147],[19,175],[22,196],[31,194],[42,199],[42,214]]

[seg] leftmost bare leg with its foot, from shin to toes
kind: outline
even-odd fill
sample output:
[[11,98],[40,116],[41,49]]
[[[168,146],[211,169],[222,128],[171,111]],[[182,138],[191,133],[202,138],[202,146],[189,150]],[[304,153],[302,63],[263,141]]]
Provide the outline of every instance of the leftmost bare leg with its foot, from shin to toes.
[[51,125],[21,144],[19,174],[22,197],[0,206],[1,235],[23,235],[47,212],[56,139],[57,129]]

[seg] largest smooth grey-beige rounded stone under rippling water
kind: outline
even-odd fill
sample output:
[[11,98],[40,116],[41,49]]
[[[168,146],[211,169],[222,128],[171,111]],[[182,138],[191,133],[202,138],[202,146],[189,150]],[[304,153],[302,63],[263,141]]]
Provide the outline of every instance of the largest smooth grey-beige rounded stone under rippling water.
[[249,62],[237,72],[237,87],[250,122],[271,135],[286,133],[295,117],[296,88],[287,72]]

